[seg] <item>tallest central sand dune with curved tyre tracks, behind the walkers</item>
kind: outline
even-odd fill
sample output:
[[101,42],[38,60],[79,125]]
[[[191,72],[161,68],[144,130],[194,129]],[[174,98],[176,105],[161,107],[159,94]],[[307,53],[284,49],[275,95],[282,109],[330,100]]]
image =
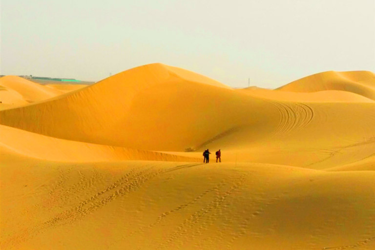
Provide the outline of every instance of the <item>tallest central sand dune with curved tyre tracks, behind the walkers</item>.
[[373,104],[363,96],[233,90],[197,82],[205,78],[182,69],[178,77],[171,68],[137,67],[52,101],[4,110],[0,123],[72,141],[198,151],[196,157],[205,147],[221,148],[230,161],[295,167],[350,164],[372,153],[371,146],[349,152],[374,137]]

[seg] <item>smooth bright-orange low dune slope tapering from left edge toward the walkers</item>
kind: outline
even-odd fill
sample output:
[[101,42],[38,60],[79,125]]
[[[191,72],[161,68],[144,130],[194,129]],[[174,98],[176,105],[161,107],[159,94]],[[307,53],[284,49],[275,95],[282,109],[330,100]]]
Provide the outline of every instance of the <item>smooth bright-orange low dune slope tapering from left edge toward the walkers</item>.
[[196,162],[197,158],[106,145],[68,141],[0,125],[0,151],[62,162],[149,160]]

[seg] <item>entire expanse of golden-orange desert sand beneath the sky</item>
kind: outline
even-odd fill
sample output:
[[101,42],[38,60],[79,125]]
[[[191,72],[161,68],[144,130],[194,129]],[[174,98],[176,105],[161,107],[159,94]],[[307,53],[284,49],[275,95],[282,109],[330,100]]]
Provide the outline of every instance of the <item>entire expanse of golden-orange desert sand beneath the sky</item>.
[[375,249],[372,72],[234,89],[154,63],[5,76],[0,101],[0,249]]

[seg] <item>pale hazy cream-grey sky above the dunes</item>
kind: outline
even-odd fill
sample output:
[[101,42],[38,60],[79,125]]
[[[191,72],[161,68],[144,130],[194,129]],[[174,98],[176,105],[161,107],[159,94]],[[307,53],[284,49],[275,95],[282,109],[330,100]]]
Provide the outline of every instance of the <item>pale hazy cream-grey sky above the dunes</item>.
[[99,81],[162,62],[232,87],[375,72],[375,0],[1,0],[0,74]]

